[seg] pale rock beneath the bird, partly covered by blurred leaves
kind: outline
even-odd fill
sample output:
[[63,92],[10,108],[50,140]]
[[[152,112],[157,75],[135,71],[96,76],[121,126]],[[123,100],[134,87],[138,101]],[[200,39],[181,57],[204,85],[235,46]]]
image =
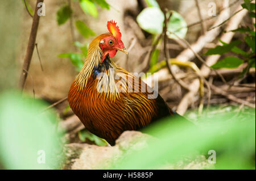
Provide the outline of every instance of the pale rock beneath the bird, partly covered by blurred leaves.
[[[116,141],[115,146],[97,146],[89,144],[67,144],[67,161],[63,169],[109,169],[127,154],[147,148],[149,141],[156,138],[138,131],[126,131]],[[182,158],[176,164],[166,164],[159,169],[212,169],[204,155]]]

